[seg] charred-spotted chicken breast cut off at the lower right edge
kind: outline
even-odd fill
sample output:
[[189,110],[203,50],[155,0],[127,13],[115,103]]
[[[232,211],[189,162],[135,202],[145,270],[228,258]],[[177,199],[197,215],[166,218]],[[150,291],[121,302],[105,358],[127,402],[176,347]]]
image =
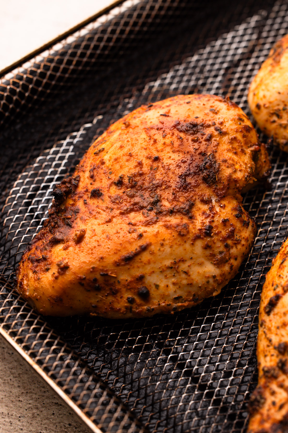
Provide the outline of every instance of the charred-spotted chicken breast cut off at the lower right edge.
[[248,432],[288,430],[288,240],[263,286],[257,340],[258,386],[250,399]]

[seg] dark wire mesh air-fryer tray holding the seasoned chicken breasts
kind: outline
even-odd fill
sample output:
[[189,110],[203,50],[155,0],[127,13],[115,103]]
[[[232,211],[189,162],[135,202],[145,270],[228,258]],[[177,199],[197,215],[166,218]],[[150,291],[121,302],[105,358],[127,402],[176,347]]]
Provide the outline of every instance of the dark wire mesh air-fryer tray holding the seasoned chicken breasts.
[[197,92],[228,95],[248,112],[249,83],[286,33],[283,0],[128,0],[0,81],[0,333],[95,432],[245,430],[260,291],[287,236],[287,155],[272,149],[271,189],[244,196],[258,220],[247,261],[197,308],[43,318],[13,290],[25,245],[55,184],[110,123]]

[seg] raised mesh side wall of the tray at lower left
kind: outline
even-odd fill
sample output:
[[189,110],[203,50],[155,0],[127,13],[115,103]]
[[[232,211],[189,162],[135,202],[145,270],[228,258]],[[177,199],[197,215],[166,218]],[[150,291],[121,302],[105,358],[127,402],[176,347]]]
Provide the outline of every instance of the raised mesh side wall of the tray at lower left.
[[145,433],[133,414],[51,327],[2,281],[1,323],[22,349],[104,432]]

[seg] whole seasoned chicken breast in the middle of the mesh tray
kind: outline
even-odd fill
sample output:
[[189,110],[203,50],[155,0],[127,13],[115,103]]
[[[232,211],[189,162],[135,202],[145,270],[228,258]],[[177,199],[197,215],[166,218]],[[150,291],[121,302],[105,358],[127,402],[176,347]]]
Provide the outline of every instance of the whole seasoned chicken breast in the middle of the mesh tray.
[[142,106],[54,189],[17,290],[59,316],[151,316],[215,296],[255,237],[241,191],[269,168],[265,146],[229,99],[183,95]]

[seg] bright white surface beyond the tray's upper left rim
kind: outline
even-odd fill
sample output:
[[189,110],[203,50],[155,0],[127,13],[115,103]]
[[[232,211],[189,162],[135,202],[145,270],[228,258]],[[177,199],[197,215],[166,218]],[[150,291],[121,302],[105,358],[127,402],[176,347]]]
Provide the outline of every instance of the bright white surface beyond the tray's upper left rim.
[[0,0],[0,70],[111,3],[112,0]]

